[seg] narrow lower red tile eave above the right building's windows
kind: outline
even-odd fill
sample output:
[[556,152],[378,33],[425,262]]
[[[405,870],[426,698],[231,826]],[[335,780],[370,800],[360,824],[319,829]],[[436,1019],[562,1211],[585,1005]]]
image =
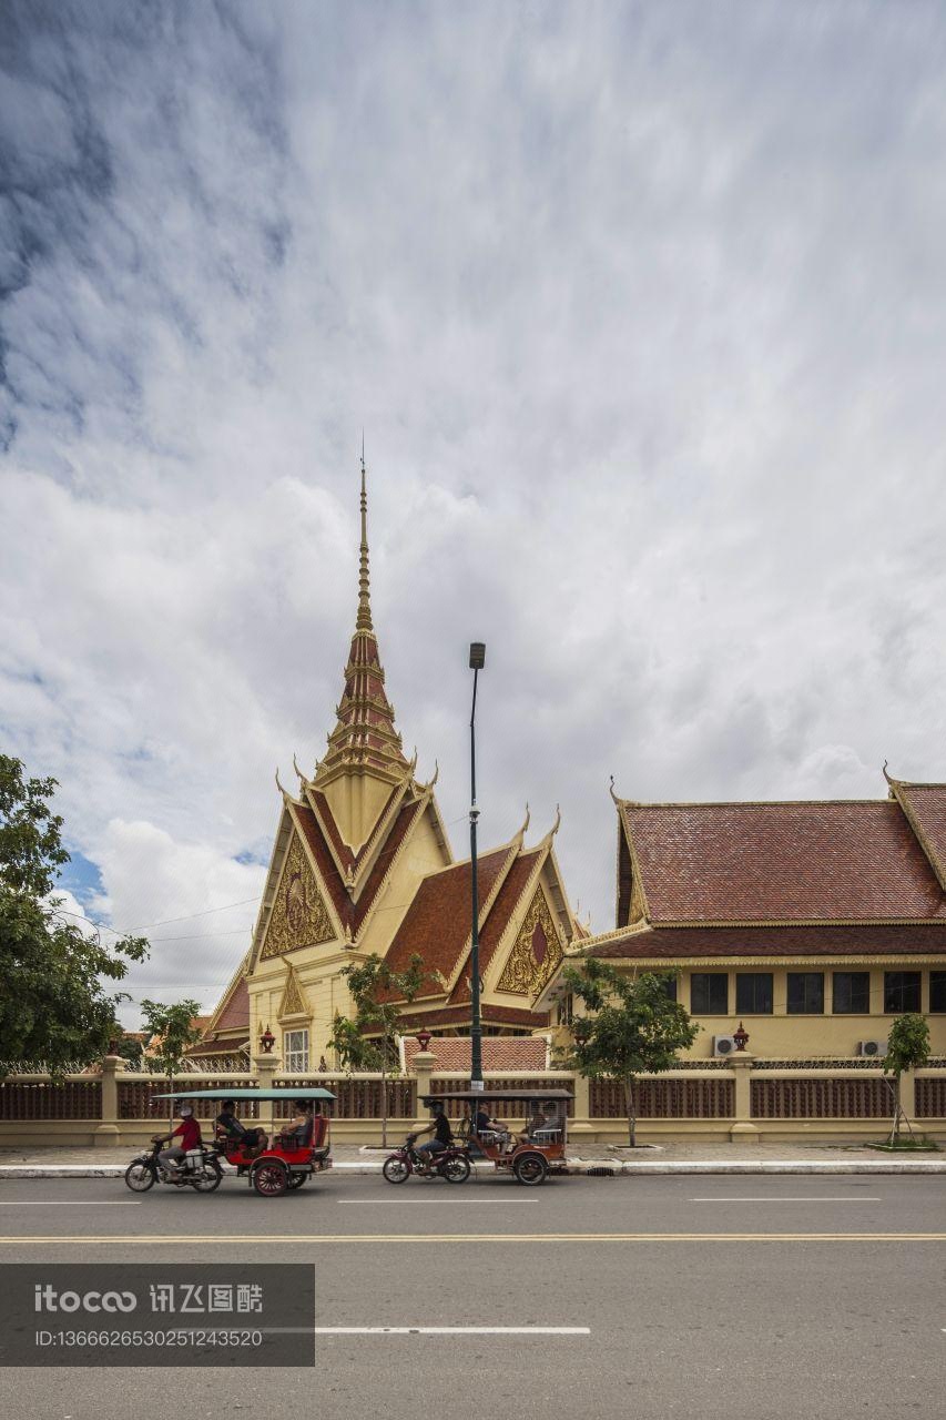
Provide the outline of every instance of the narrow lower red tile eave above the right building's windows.
[[607,958],[946,956],[946,923],[815,927],[651,927],[587,944]]

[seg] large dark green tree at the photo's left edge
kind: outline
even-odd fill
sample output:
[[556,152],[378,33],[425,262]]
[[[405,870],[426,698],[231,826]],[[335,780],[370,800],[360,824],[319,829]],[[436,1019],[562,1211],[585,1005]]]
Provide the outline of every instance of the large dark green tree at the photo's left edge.
[[[50,808],[57,781],[26,778],[0,754],[0,1061],[44,1061],[54,1076],[87,1065],[121,1034],[104,978],[121,981],[148,956],[143,937],[105,946],[51,896],[68,863],[62,819]],[[0,1065],[0,1069],[3,1066]]]

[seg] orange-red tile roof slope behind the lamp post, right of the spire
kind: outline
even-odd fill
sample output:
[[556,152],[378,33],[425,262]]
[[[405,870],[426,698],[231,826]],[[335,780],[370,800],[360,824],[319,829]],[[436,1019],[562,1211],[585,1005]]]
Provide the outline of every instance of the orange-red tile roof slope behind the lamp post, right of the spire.
[[[477,859],[480,905],[493,890],[509,856],[509,848],[497,848]],[[472,882],[469,859],[422,879],[385,957],[392,970],[405,971],[412,953],[418,951],[428,971],[450,977],[470,934]]]

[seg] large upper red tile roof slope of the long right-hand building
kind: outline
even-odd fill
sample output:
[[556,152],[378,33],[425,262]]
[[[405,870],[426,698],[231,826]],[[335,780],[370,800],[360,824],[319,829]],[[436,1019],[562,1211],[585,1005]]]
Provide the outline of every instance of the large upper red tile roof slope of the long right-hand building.
[[655,924],[946,917],[892,799],[621,805]]

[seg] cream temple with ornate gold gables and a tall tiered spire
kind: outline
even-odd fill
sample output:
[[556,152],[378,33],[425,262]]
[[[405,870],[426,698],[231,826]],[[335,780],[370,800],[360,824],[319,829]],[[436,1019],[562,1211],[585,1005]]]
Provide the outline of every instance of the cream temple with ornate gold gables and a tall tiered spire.
[[[256,1049],[268,1027],[284,1068],[335,1065],[328,1037],[352,1012],[344,968],[376,954],[403,968],[418,953],[426,983],[405,1021],[435,1035],[470,1030],[472,865],[455,861],[429,781],[408,760],[385,687],[371,608],[368,496],[361,469],[355,630],[337,723],[297,788],[280,799],[253,941],[197,1055]],[[558,821],[531,846],[526,822],[477,855],[482,1021],[487,1035],[530,1037],[548,1024],[531,1005],[581,934],[555,861]]]

